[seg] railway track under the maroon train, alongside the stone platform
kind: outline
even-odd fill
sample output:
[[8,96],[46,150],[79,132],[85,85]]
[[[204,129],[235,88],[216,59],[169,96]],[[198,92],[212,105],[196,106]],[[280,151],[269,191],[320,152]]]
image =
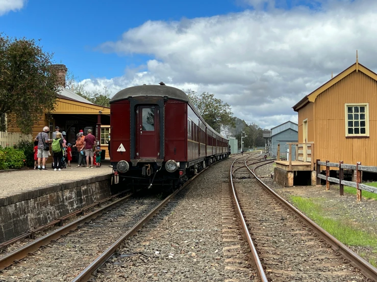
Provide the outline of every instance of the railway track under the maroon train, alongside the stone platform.
[[87,281],[123,240],[134,235],[197,176],[163,201],[135,200],[127,195],[6,253],[0,257],[0,281]]

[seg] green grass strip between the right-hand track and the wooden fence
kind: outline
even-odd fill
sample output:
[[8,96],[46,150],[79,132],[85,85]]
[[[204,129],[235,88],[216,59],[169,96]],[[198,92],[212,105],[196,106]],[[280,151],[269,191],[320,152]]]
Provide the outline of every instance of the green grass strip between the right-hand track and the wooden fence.
[[[301,212],[309,216],[320,227],[329,232],[343,244],[349,246],[372,247],[373,252],[377,250],[377,235],[375,233],[363,231],[360,226],[355,225],[355,223],[350,224],[346,220],[335,220],[326,217],[323,213],[322,206],[315,203],[315,200],[318,201],[319,199],[306,199],[300,196],[290,196],[290,198]],[[374,267],[377,266],[375,258],[370,258],[369,263]]]

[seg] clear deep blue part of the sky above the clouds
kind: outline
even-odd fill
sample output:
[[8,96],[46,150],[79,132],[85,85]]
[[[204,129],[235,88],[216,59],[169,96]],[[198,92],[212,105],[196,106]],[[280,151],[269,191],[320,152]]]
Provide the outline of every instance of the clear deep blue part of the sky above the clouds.
[[[55,61],[65,64],[80,80],[109,78],[122,75],[127,66],[143,65],[153,58],[152,54],[119,56],[96,49],[103,42],[119,39],[123,32],[133,27],[148,20],[179,21],[185,17],[211,17],[254,9],[242,0],[109,3],[99,0],[29,0],[21,10],[0,17],[0,31],[11,37],[41,39],[44,50],[54,52]],[[303,4],[313,7],[313,4],[304,1],[283,1],[277,6],[290,9]]]

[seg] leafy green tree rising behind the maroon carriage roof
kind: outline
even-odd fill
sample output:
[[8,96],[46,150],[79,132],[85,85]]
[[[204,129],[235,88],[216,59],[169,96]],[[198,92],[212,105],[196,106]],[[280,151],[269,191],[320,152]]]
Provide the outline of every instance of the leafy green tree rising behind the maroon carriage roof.
[[221,125],[235,126],[235,118],[228,103],[215,98],[215,95],[209,92],[197,94],[197,92],[191,89],[183,91],[187,94],[191,103],[199,111],[199,114],[202,115],[206,123],[213,129],[219,132]]

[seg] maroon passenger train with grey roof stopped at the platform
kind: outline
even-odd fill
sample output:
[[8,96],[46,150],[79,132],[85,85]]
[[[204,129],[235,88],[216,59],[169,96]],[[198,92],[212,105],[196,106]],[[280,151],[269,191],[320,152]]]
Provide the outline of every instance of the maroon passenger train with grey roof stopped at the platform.
[[229,157],[229,139],[209,126],[180,89],[134,86],[110,100],[113,183],[176,187]]

